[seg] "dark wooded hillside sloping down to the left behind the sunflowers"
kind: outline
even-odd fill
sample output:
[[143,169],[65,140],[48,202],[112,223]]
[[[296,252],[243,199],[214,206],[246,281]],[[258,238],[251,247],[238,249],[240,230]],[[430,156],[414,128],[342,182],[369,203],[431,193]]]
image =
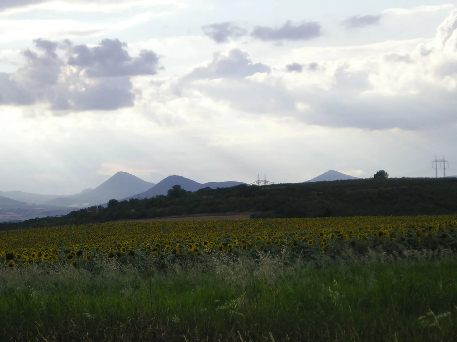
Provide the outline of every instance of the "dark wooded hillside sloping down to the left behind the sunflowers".
[[333,182],[209,187],[117,201],[60,217],[0,224],[0,230],[193,214],[252,213],[251,218],[457,214],[457,178],[375,177]]

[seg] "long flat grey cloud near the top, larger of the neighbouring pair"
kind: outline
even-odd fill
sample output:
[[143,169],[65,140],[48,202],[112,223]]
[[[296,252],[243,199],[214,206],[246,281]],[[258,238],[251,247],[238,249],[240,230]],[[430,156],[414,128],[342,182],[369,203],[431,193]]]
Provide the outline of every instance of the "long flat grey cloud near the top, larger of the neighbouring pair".
[[318,22],[293,23],[286,21],[281,27],[256,26],[251,36],[263,41],[308,40],[322,35]]

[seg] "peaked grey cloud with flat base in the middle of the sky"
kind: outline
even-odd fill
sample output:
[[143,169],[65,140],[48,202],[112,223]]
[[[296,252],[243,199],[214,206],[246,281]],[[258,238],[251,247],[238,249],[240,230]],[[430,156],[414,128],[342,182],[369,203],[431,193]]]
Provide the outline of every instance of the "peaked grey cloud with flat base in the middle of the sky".
[[247,52],[234,48],[227,56],[214,53],[208,66],[194,69],[184,79],[244,78],[258,72],[270,73],[271,68],[262,63],[253,63]]

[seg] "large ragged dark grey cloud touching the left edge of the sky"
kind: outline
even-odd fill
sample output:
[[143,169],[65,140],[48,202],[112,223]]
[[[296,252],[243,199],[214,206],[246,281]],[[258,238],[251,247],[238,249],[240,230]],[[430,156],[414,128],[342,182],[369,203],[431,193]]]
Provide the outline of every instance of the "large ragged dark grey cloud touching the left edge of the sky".
[[130,78],[155,75],[159,64],[153,51],[142,50],[132,57],[127,44],[117,39],[104,39],[93,48],[68,40],[33,43],[33,51],[22,52],[26,64],[21,69],[0,73],[0,105],[42,102],[56,111],[131,107],[138,91]]

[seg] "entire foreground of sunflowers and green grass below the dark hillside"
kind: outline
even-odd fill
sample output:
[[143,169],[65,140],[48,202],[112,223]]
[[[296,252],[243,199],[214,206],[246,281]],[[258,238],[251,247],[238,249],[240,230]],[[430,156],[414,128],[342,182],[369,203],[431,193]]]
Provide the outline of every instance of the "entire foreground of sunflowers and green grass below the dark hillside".
[[8,230],[0,336],[453,341],[456,252],[456,215]]

